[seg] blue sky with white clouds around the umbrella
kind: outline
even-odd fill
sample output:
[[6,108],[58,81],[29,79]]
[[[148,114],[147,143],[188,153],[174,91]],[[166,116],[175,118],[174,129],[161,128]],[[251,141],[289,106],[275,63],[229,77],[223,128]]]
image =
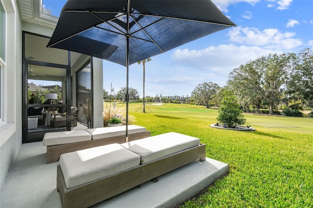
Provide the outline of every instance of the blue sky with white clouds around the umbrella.
[[[224,86],[234,68],[270,53],[313,48],[313,0],[212,0],[232,27],[151,57],[145,67],[145,96],[190,96],[204,82]],[[66,0],[44,0],[59,16]],[[126,68],[103,61],[103,87],[126,86]],[[129,86],[143,93],[143,66],[130,66]]]

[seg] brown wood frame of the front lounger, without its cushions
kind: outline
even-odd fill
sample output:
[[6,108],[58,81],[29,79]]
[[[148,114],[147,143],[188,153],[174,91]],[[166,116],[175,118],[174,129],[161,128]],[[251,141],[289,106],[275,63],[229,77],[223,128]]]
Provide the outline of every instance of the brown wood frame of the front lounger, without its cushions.
[[57,190],[63,208],[86,208],[199,158],[201,161],[206,159],[204,144],[73,188],[66,187],[61,166],[58,164]]

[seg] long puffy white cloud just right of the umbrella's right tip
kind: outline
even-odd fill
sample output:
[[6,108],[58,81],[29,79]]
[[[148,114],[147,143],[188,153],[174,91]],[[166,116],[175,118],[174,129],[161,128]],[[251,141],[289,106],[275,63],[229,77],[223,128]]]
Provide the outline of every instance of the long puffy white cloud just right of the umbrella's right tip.
[[260,31],[258,28],[234,27],[228,36],[231,42],[241,44],[263,46],[268,49],[291,49],[302,45],[299,39],[295,39],[295,33],[281,32],[278,29],[265,29]]

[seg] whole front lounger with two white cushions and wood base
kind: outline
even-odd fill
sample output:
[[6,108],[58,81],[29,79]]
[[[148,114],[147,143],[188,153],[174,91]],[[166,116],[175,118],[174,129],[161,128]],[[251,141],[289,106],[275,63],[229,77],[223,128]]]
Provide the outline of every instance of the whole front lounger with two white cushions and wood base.
[[89,207],[199,158],[205,145],[174,132],[70,152],[57,165],[57,190],[63,208]]

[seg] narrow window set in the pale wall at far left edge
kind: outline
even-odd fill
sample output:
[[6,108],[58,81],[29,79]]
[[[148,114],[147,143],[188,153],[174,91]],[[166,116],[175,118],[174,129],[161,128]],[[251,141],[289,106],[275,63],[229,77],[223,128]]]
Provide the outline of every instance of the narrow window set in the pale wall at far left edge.
[[0,123],[4,121],[5,11],[0,2]]

